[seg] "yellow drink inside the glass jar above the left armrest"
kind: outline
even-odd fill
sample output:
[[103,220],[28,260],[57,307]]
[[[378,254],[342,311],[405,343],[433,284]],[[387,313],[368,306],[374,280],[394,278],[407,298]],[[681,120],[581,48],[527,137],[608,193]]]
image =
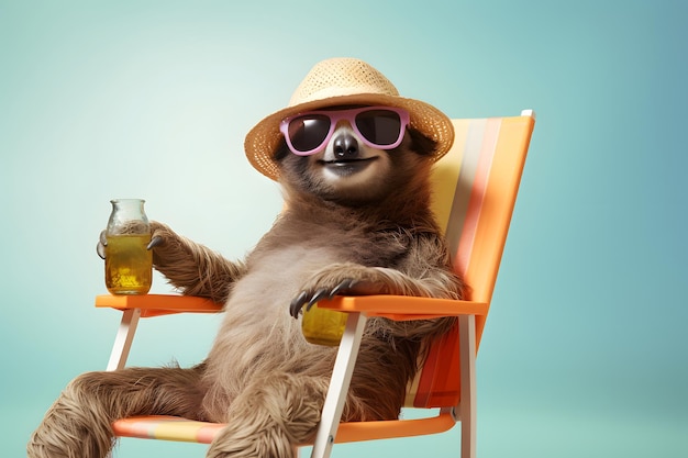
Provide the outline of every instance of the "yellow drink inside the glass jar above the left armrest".
[[145,294],[153,282],[151,234],[109,235],[106,287],[112,294]]

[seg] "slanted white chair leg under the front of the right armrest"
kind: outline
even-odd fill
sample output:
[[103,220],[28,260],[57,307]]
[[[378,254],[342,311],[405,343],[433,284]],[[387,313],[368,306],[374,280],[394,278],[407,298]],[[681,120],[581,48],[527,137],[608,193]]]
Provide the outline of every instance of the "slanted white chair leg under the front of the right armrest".
[[318,434],[313,443],[311,458],[329,458],[342,418],[348,386],[358,357],[358,347],[366,325],[362,313],[349,313],[340,349],[334,361],[330,388],[322,409]]

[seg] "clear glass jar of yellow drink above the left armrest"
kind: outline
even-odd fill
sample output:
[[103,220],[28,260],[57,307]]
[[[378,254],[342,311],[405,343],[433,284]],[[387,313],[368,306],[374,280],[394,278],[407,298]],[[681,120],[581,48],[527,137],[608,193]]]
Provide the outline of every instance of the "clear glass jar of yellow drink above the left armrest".
[[106,287],[112,294],[146,294],[153,282],[151,224],[142,199],[111,200],[106,230]]

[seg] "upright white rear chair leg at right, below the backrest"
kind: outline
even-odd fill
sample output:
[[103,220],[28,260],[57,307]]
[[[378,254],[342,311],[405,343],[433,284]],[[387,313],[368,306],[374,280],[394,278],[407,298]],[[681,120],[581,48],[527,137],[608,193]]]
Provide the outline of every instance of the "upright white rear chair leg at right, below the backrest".
[[476,457],[476,317],[458,317],[462,399],[462,458]]

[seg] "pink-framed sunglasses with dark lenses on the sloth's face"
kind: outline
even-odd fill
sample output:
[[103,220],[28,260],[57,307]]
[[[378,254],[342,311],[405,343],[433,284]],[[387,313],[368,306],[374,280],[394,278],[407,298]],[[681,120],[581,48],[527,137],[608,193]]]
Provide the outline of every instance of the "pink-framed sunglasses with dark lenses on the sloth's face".
[[401,144],[409,125],[409,112],[392,107],[363,107],[352,110],[318,110],[286,118],[279,123],[287,146],[296,155],[310,156],[328,144],[334,127],[346,120],[363,143],[379,149]]

